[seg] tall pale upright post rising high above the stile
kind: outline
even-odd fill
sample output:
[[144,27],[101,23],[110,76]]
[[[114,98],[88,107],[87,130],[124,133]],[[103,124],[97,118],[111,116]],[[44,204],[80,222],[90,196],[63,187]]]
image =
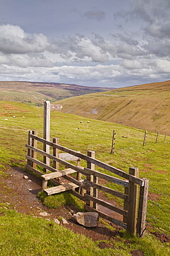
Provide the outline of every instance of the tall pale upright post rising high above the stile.
[[[50,102],[44,102],[44,117],[43,117],[43,138],[50,141]],[[43,151],[50,154],[50,146],[43,144]],[[43,163],[50,165],[50,158],[43,156]],[[44,168],[44,172],[47,170]]]

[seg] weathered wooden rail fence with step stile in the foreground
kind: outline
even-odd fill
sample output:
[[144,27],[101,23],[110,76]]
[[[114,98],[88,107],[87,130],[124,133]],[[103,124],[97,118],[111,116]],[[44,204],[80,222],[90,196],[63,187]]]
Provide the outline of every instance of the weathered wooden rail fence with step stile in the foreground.
[[[41,145],[43,150],[38,148],[37,142],[43,143],[43,147]],[[36,131],[29,131],[28,144],[25,146],[28,149],[26,168],[41,176],[42,188],[47,195],[68,190],[74,196],[85,201],[85,210],[98,212],[100,217],[127,229],[131,235],[137,234],[139,237],[142,237],[145,231],[149,181],[138,178],[138,168],[129,168],[128,174],[98,161],[95,158],[94,151],[88,151],[87,155],[81,154],[59,145],[59,138],[54,138],[53,142],[40,138],[37,136]],[[45,152],[47,147],[51,148],[52,154],[50,154],[49,149],[48,152]],[[37,157],[37,154],[39,154],[39,157]],[[43,156],[43,161],[37,159],[40,156]],[[87,162],[87,167],[81,167],[81,160]],[[77,161],[77,164],[70,163],[72,161]],[[59,164],[65,166],[66,169],[59,170]],[[43,167],[43,172],[37,170],[37,165]],[[122,179],[98,172],[95,170],[95,166],[116,174]],[[76,173],[76,177],[75,174],[71,175],[73,173]],[[82,174],[85,179],[82,179]],[[67,181],[64,185],[60,184],[59,177],[61,176]],[[47,181],[49,180],[52,180],[56,186],[47,188]],[[124,192],[118,192],[100,185],[99,181],[103,180],[123,186]],[[138,186],[140,187],[139,196]],[[98,190],[123,199],[123,208],[99,199]],[[107,208],[109,212],[111,210],[120,214],[122,220],[115,219],[103,212],[101,210],[103,207]]]

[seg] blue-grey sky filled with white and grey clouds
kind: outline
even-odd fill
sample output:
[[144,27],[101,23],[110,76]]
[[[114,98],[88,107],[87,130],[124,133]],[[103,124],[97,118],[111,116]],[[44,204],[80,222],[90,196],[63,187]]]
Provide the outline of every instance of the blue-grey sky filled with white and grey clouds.
[[0,0],[0,80],[169,80],[170,0]]

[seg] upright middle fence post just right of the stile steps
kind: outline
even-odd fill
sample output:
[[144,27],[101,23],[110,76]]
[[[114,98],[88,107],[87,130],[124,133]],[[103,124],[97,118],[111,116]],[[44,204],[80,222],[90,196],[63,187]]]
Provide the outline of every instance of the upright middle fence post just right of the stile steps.
[[[95,152],[88,150],[87,151],[87,156],[95,158]],[[91,170],[94,170],[94,164],[90,163],[90,162],[87,162],[87,168],[91,169]],[[97,183],[98,182],[98,177],[94,177],[93,175],[87,174],[87,181],[92,181],[92,182]],[[98,191],[97,191],[97,189],[90,188],[90,191],[89,192],[87,191],[87,194],[97,197],[98,196]],[[89,205],[90,207],[94,207],[95,209],[97,208],[97,204],[95,202],[92,202],[92,201],[87,202],[87,205]]]

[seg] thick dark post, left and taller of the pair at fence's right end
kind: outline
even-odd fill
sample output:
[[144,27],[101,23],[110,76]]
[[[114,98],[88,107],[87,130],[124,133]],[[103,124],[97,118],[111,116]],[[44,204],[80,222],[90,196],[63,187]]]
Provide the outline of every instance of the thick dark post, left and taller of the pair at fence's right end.
[[[129,168],[129,174],[138,178],[138,168]],[[129,194],[127,205],[127,231],[130,235],[136,235],[136,213],[138,203],[138,185],[129,181]]]

